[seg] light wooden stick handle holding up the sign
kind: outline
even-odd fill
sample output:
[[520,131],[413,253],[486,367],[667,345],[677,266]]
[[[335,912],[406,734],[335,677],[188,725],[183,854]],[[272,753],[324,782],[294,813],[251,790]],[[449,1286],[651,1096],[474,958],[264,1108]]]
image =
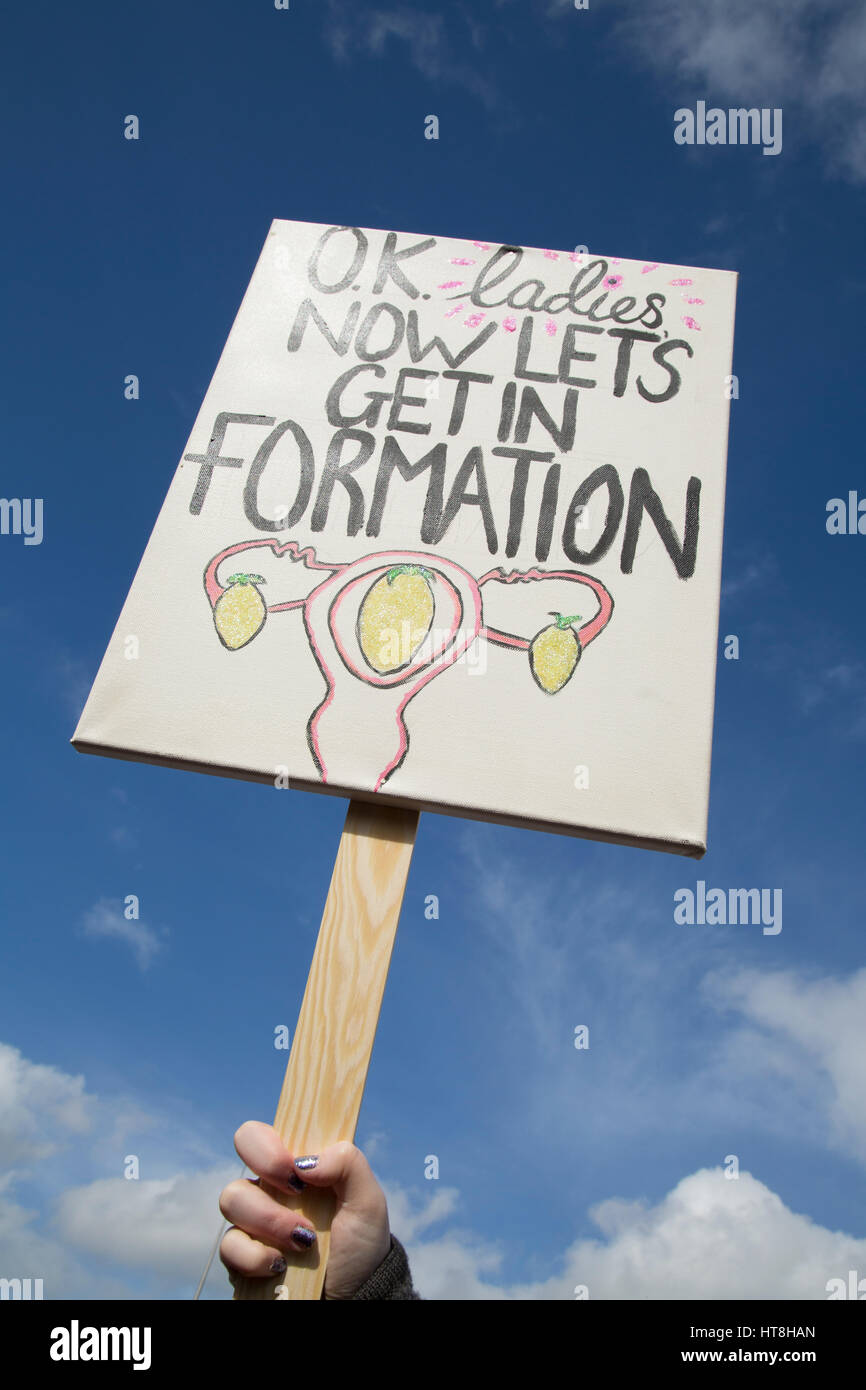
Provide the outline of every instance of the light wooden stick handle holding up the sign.
[[[274,1120],[296,1156],[354,1140],[417,828],[417,810],[349,802]],[[263,1187],[318,1238],[309,1252],[284,1251],[285,1275],[238,1277],[235,1298],[321,1298],[334,1193]]]

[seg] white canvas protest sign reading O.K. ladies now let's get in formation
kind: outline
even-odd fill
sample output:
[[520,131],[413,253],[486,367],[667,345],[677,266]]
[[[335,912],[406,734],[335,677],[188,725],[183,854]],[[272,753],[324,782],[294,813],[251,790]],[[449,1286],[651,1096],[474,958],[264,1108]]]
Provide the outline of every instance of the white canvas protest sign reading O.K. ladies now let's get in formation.
[[735,281],[275,221],[75,746],[701,855]]

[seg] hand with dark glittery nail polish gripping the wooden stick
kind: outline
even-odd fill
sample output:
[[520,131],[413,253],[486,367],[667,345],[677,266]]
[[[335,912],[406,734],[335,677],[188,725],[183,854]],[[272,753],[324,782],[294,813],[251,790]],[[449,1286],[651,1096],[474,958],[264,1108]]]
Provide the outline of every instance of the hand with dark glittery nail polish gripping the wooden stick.
[[[313,1168],[297,1168],[272,1125],[247,1120],[235,1134],[246,1166],[270,1187],[293,1193],[297,1179],[309,1187],[332,1187],[336,1198],[325,1270],[325,1298],[352,1298],[391,1250],[388,1202],[360,1148],[343,1140],[322,1148]],[[285,1269],[284,1251],[306,1251],[297,1236],[313,1223],[284,1207],[257,1179],[239,1177],[220,1193],[220,1211],[232,1229],[220,1244],[220,1259],[232,1275],[267,1279]],[[282,1266],[281,1266],[282,1262]]]

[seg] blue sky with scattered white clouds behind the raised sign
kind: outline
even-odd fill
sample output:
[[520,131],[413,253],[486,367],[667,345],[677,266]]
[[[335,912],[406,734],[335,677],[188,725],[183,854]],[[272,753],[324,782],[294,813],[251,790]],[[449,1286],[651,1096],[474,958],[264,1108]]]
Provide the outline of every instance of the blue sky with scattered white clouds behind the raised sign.
[[[866,1276],[866,537],[826,530],[866,492],[862,8],[154,0],[7,29],[1,491],[44,535],[0,537],[0,1275],[186,1297],[232,1133],[275,1106],[345,802],[70,737],[279,217],[740,272],[709,852],[421,817],[357,1136],[418,1287]],[[677,145],[698,100],[781,108],[781,153]],[[781,933],[678,926],[698,878],[781,888]]]

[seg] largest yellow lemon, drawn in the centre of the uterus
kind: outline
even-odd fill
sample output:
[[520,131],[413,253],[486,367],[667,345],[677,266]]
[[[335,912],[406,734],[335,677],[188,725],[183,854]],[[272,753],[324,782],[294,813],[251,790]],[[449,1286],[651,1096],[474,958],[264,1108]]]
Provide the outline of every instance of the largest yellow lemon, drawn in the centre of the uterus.
[[432,578],[420,564],[395,564],[367,591],[357,614],[357,641],[367,666],[379,676],[407,666],[430,632]]

